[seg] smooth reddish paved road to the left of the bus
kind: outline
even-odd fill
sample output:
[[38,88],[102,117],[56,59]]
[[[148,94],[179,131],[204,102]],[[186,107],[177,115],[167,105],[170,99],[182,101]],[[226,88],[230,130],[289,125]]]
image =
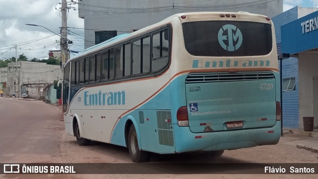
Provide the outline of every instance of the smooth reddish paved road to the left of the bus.
[[32,155],[58,153],[59,109],[42,101],[0,98],[0,163],[29,163]]

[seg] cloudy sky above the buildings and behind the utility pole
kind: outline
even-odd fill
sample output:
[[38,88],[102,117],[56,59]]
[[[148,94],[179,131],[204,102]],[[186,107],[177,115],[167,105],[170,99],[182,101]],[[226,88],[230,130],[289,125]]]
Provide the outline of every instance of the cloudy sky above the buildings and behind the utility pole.
[[[60,33],[59,27],[62,26],[60,2],[61,0],[0,0],[0,60],[15,57],[13,49],[15,44],[17,44],[17,55],[24,54],[28,60],[45,59],[43,57],[48,56],[49,50],[60,50],[60,37],[47,30]],[[318,0],[284,0],[283,10],[286,11],[297,5],[318,7]],[[70,6],[78,7],[78,5]],[[47,29],[25,24],[37,24]],[[70,9],[68,27],[84,28],[84,20],[78,17],[77,10]],[[83,51],[84,30],[74,28],[69,30],[72,31],[70,32],[72,35],[68,34],[68,39],[74,42],[70,49]]]

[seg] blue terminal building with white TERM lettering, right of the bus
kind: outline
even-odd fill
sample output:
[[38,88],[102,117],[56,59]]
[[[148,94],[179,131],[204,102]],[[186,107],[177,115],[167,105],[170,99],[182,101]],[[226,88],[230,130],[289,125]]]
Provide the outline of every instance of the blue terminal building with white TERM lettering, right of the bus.
[[283,126],[304,128],[303,117],[318,126],[318,8],[294,7],[272,18],[282,60]]

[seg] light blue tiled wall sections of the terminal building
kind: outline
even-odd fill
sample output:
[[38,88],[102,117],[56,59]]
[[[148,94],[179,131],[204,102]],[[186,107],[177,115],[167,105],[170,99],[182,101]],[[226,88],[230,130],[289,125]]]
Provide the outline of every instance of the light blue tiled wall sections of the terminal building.
[[[291,8],[272,18],[275,27],[277,53],[282,53],[281,26],[298,19],[298,6]],[[289,58],[282,62],[282,78],[296,79],[294,91],[283,92],[283,127],[299,128],[299,97],[298,97],[298,59]]]

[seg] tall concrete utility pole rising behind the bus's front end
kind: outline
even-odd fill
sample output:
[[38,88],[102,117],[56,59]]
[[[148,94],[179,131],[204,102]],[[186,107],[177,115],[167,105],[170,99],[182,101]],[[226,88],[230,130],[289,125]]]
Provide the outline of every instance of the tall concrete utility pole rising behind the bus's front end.
[[62,57],[62,71],[64,71],[64,65],[66,61],[69,59],[68,52],[68,36],[67,36],[67,2],[66,0],[62,0],[62,27],[61,27],[61,57]]

